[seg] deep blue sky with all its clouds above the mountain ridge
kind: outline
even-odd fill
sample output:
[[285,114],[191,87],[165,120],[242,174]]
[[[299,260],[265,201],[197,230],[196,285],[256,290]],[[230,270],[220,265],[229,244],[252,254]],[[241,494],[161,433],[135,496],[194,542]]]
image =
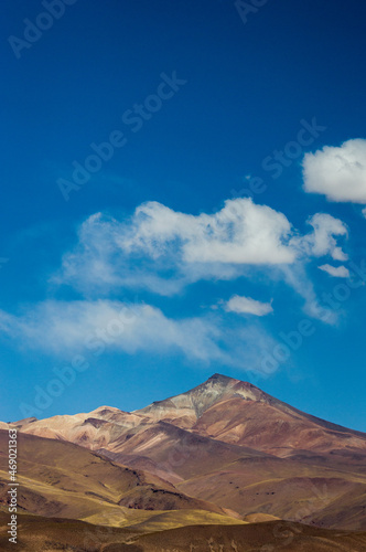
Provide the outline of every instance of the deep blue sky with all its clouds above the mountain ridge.
[[60,2],[0,23],[0,420],[220,372],[365,431],[364,2]]

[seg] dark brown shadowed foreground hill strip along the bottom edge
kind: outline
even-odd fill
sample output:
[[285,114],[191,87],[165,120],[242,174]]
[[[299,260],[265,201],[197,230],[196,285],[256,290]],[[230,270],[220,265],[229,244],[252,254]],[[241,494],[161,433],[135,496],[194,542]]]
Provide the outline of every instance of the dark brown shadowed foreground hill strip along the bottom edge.
[[[8,517],[0,512],[0,550],[11,551]],[[20,517],[19,552],[362,552],[366,533],[271,521],[243,526],[187,526],[147,531],[77,520]]]

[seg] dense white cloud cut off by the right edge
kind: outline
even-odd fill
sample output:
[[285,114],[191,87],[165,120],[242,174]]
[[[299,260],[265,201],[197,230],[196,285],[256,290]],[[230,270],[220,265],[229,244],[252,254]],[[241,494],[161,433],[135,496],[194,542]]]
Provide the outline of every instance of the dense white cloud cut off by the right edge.
[[366,203],[366,140],[325,146],[303,160],[304,190],[330,201]]

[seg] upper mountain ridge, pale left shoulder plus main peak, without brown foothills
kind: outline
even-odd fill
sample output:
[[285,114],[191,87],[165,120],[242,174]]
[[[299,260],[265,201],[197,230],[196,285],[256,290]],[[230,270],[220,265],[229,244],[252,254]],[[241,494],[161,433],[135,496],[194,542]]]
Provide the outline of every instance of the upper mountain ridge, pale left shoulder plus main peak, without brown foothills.
[[125,440],[159,422],[278,457],[305,450],[366,453],[365,434],[305,414],[251,383],[220,374],[132,413],[101,406],[88,414],[29,418],[13,425],[24,433],[64,438],[92,449],[122,452]]

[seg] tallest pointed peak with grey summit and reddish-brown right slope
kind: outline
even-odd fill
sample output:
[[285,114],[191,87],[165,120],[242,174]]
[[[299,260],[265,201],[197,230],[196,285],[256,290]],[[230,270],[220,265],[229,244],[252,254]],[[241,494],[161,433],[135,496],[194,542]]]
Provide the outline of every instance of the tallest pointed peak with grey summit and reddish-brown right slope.
[[305,414],[251,383],[220,374],[134,414],[276,456],[288,456],[299,449],[366,452],[365,435],[360,432]]

